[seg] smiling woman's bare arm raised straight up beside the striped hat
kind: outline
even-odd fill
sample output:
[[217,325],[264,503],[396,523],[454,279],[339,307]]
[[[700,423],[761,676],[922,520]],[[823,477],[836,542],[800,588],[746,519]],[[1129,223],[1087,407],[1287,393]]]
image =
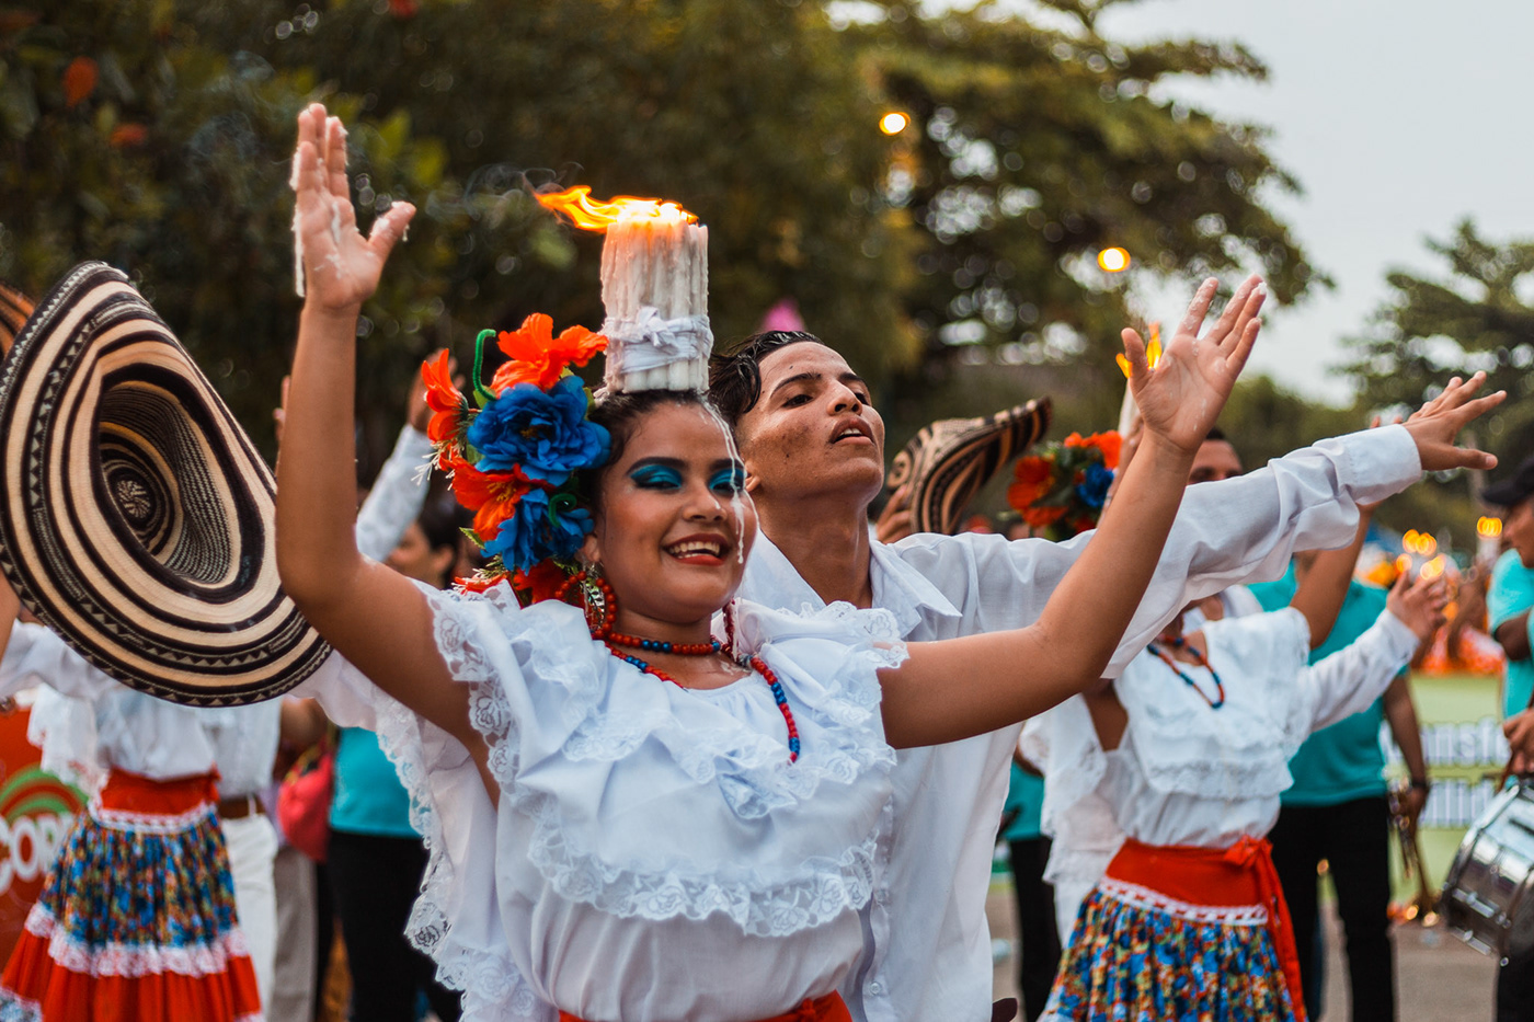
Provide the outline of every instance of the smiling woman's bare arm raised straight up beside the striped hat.
[[356,330],[362,302],[414,209],[396,204],[364,238],[347,183],[341,121],[314,104],[299,115],[293,229],[304,253],[305,301],[278,459],[278,571],[305,617],[380,689],[485,749],[433,640],[425,595],[357,552],[353,486]]

